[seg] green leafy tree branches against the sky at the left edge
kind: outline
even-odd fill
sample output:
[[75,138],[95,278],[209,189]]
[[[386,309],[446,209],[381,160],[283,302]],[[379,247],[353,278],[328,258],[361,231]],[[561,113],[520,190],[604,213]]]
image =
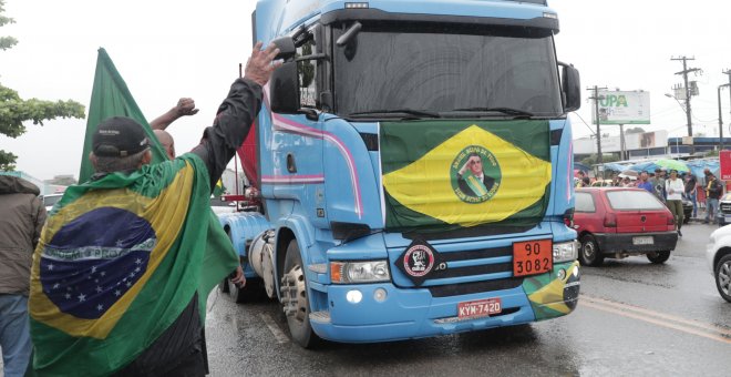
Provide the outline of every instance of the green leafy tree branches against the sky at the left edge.
[[[16,22],[4,17],[6,0],[0,0],[0,27]],[[18,40],[12,37],[0,37],[0,51],[16,45]],[[43,125],[43,121],[56,118],[84,119],[84,105],[75,101],[42,101],[39,99],[22,100],[17,91],[0,83],[0,133],[16,139],[25,133],[24,121]],[[0,171],[16,169],[17,155],[0,150]]]

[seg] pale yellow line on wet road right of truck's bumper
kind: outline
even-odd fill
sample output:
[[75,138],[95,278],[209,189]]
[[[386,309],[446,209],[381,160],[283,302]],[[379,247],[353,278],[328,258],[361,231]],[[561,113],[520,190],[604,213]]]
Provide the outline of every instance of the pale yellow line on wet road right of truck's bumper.
[[591,297],[584,294],[579,298],[579,303],[580,305],[593,309],[617,314],[624,317],[647,322],[661,327],[731,345],[731,330],[721,326],[653,312],[634,305]]

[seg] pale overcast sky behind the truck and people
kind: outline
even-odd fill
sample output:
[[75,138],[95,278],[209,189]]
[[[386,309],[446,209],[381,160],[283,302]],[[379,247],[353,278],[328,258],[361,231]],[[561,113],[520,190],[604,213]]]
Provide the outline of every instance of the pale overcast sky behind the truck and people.
[[[694,58],[700,95],[692,99],[693,132],[718,135],[717,88],[731,69],[729,14],[731,1],[696,0],[549,0],[557,11],[558,59],[574,64],[581,88],[650,92],[651,124],[687,135],[683,109],[665,93],[682,78],[682,63]],[[89,104],[96,51],[104,48],[148,120],[166,112],[182,96],[195,99],[200,112],[169,126],[178,153],[195,146],[238,77],[251,49],[254,0],[7,0],[4,16],[14,24],[0,28],[19,43],[0,51],[0,83],[21,98],[75,100]],[[588,136],[590,92],[573,121],[574,136]],[[722,91],[725,131],[731,135],[729,90]],[[588,125],[586,123],[589,123]],[[17,170],[48,180],[78,176],[85,120],[54,120],[43,126],[27,123],[18,139],[0,135],[0,149],[19,156]],[[601,133],[618,134],[616,125]]]

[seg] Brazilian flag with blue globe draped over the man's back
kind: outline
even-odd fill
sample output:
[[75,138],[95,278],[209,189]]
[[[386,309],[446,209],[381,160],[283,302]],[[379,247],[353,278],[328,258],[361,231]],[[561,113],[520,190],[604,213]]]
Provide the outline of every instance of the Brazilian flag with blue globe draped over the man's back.
[[205,316],[208,293],[238,265],[210,211],[210,188],[205,163],[192,153],[66,188],[33,255],[37,375],[113,374],[155,342],[196,292]]

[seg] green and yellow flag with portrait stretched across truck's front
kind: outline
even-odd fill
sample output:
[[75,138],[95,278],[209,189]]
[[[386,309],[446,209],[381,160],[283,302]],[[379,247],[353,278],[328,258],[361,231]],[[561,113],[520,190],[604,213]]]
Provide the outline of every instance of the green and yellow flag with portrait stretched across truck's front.
[[381,123],[388,230],[533,226],[548,205],[548,121]]

